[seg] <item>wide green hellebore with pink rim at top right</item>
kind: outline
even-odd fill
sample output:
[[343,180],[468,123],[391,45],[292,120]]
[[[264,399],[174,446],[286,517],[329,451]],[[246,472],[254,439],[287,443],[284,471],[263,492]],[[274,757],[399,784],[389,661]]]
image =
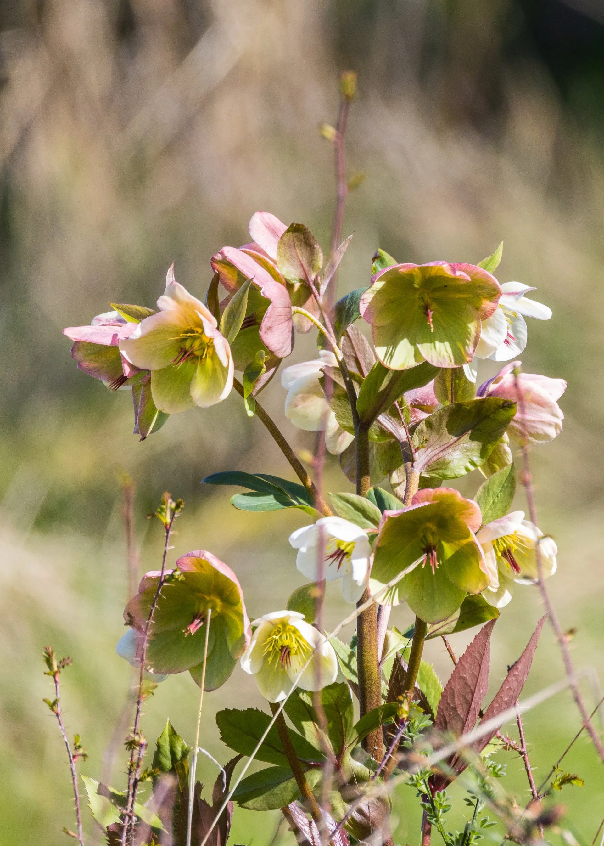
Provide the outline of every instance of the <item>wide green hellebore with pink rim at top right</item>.
[[480,321],[497,310],[501,288],[491,273],[468,264],[400,264],[373,277],[360,299],[376,355],[392,370],[430,361],[459,367],[472,360]]

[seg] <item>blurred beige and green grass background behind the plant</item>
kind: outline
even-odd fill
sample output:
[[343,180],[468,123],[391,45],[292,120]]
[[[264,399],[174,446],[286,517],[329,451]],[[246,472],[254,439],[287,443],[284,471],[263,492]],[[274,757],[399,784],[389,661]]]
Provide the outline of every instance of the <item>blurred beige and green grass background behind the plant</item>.
[[[355,234],[340,293],[368,283],[377,246],[399,261],[476,262],[503,239],[500,280],[537,286],[552,307],[549,323],[529,321],[524,355],[526,371],[568,380],[564,433],[533,454],[540,519],[560,550],[549,584],[563,625],[578,629],[574,660],[602,673],[603,47],[601,0],[0,3],[0,843],[54,846],[74,827],[64,749],[41,703],[42,647],[74,658],[63,696],[69,731],[91,755],[82,772],[100,776],[123,711],[129,670],[114,645],[127,599],[124,470],[137,487],[141,571],[159,558],[160,527],[145,515],[167,489],[187,503],[173,555],[215,552],[239,574],[251,617],[283,607],[299,584],[287,537],[304,518],[235,512],[229,492],[199,484],[234,468],[291,477],[239,397],[174,416],[139,443],[129,393],[80,373],[61,329],[110,300],[153,305],[172,261],[202,296],[210,256],[245,243],[256,209],[305,222],[327,249],[332,148],[317,126],[335,123],[343,69],[359,72],[349,168],[366,179],[349,196],[344,235]],[[311,355],[312,339],[297,336],[293,360]],[[277,380],[263,394],[277,420],[283,398]],[[330,464],[327,488],[342,486],[338,474]],[[460,487],[473,495],[479,482]],[[345,612],[329,591],[327,625]],[[535,591],[519,588],[493,635],[495,687],[540,613]],[[400,626],[408,618],[404,608],[393,615]],[[447,678],[442,648],[432,642],[428,653]],[[527,691],[562,675],[545,629]],[[190,742],[197,694],[188,675],[162,684],[147,736],[170,717]],[[585,695],[593,700],[589,684]],[[228,752],[213,713],[250,704],[262,705],[239,669],[207,697],[202,743],[219,760]],[[579,718],[563,694],[525,726],[539,781]],[[522,766],[507,759],[525,801]],[[124,766],[118,750],[116,787]],[[213,782],[211,763],[200,767]],[[583,740],[567,768],[585,788],[565,788],[563,825],[591,843],[604,813],[601,765]],[[398,791],[395,814],[395,842],[416,843],[410,788]],[[236,810],[232,842],[265,846],[275,816],[268,824]],[[87,810],[85,822],[98,843]]]

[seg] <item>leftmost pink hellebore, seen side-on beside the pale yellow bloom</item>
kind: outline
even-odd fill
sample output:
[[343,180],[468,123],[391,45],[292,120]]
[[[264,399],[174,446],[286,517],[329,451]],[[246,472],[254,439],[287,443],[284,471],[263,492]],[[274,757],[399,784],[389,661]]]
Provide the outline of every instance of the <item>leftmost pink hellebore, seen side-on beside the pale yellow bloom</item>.
[[136,327],[136,322],[126,321],[118,311],[106,311],[93,318],[90,326],[67,327],[63,335],[75,342],[71,357],[78,362],[79,370],[117,391],[140,372],[118,348],[118,343],[129,338]]

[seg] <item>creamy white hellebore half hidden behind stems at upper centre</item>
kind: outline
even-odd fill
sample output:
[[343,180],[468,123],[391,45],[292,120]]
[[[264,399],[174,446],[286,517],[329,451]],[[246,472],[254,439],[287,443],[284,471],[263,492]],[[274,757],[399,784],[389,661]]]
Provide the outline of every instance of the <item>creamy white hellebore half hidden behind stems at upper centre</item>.
[[337,366],[336,356],[321,349],[318,359],[291,365],[281,373],[281,384],[288,392],[285,416],[299,429],[325,430],[325,443],[332,455],[343,453],[354,441],[354,436],[344,431],[336,420],[319,382],[322,367]]

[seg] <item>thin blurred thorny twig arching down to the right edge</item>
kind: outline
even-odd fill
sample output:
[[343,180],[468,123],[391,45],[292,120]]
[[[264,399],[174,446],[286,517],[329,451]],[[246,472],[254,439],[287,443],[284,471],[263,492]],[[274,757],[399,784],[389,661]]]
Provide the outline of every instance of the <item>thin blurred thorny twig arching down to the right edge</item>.
[[[524,485],[524,492],[526,494],[526,502],[529,506],[529,514],[530,514],[530,522],[533,525],[537,525],[537,512],[535,508],[535,495],[533,491],[533,481],[532,475],[530,473],[530,459],[529,459],[529,450],[527,448],[528,437],[526,433],[526,426],[524,423],[524,393],[522,388],[520,387],[520,374],[519,368],[514,368],[513,371],[515,383],[516,383],[516,394],[518,397],[518,405],[519,405],[519,417],[520,420],[523,420],[523,442],[522,446],[520,447],[520,452],[522,454],[522,464],[523,470],[521,473],[521,480]],[[571,678],[574,675],[574,667],[573,662],[570,657],[570,652],[568,651],[568,643],[566,640],[566,635],[563,632],[563,628],[560,625],[560,621],[557,618],[557,613],[552,605],[552,600],[550,599],[549,594],[547,593],[546,588],[546,581],[543,576],[543,559],[541,558],[541,547],[539,541],[536,544],[536,558],[537,558],[537,579],[539,584],[539,590],[541,591],[541,598],[543,603],[546,607],[547,617],[549,618],[550,623],[552,624],[552,629],[556,633],[556,638],[558,645],[560,646],[560,651],[562,652],[563,662],[564,662],[564,669],[566,670],[566,674],[568,678]],[[590,715],[587,712],[587,708],[585,706],[585,702],[583,700],[583,696],[580,694],[579,687],[577,684],[572,681],[570,684],[570,689],[573,692],[573,698],[575,701],[576,706],[579,708],[579,712],[581,717],[583,718],[583,722],[585,728],[590,734],[590,738],[594,746],[596,747],[596,751],[598,755],[600,755],[600,760],[604,763],[604,745],[602,745],[601,739],[596,732],[596,728],[594,728],[593,722],[591,722]]]

